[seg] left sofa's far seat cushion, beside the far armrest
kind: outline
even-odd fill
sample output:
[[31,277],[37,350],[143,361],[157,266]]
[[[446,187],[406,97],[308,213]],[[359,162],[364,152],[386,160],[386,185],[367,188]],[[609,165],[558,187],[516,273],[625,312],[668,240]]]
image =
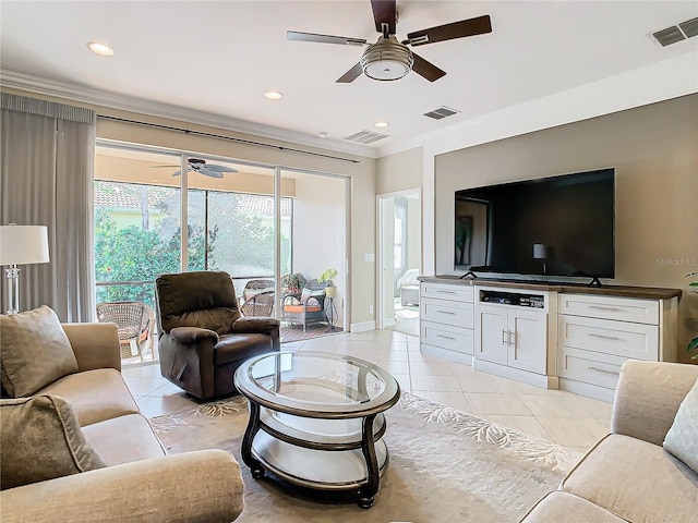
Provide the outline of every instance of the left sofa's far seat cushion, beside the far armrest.
[[65,376],[41,389],[41,393],[64,398],[83,427],[140,412],[121,374],[113,368],[96,368]]

